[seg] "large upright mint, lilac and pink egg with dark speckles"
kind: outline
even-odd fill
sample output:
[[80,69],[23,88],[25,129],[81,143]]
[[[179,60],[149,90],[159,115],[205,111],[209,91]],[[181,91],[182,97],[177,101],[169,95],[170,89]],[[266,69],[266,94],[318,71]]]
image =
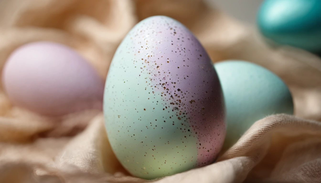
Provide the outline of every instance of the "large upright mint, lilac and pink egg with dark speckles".
[[166,16],[139,22],[108,72],[110,145],[134,176],[154,179],[213,163],[225,137],[221,85],[206,51]]

